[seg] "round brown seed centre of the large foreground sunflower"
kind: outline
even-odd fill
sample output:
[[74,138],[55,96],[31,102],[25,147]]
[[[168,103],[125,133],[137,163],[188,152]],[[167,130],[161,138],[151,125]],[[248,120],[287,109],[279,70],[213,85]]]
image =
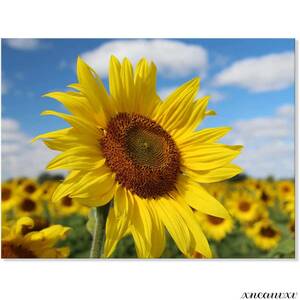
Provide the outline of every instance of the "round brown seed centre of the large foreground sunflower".
[[101,140],[107,165],[123,187],[142,198],[174,189],[179,152],[172,137],[156,122],[138,114],[119,113]]

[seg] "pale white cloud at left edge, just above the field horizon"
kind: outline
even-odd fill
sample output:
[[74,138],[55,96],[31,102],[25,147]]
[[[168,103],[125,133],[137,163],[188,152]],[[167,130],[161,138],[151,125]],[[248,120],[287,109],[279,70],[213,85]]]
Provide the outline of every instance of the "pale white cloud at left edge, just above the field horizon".
[[35,177],[45,171],[47,163],[57,153],[46,149],[42,142],[31,143],[19,123],[2,119],[2,178],[16,176]]

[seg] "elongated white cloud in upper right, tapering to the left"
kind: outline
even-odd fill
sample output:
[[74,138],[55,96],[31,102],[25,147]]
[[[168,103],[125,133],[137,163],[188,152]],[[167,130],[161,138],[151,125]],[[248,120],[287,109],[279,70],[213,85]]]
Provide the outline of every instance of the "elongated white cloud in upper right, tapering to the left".
[[216,86],[233,85],[252,92],[281,90],[293,82],[293,52],[242,59],[221,71],[214,78]]

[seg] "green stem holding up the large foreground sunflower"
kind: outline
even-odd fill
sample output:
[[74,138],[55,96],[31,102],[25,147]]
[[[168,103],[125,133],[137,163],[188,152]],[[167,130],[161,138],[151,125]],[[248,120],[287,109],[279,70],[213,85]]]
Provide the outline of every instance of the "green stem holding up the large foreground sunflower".
[[109,207],[110,203],[96,207],[95,209],[95,226],[90,258],[102,257],[105,241],[105,225]]

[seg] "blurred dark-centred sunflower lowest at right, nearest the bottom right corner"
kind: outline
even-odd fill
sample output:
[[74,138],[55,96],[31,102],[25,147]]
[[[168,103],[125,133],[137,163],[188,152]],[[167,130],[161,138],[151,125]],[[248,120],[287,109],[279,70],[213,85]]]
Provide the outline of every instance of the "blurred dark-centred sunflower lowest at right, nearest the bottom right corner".
[[270,219],[262,219],[246,228],[246,234],[262,250],[275,248],[281,238],[281,232]]

